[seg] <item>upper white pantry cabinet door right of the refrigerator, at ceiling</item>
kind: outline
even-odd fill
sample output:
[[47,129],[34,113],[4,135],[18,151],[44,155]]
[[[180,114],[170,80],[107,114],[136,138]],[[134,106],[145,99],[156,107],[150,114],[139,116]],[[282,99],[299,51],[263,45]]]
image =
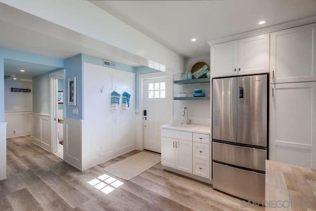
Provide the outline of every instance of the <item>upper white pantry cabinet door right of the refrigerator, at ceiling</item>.
[[271,83],[316,81],[316,24],[271,33]]

